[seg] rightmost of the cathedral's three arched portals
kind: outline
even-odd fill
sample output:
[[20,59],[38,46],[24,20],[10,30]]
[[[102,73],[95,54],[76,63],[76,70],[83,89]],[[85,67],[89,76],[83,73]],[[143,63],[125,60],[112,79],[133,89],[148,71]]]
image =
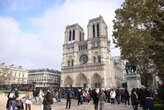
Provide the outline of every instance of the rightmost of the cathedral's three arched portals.
[[91,87],[92,88],[101,88],[102,86],[102,78],[98,74],[94,74],[91,79]]

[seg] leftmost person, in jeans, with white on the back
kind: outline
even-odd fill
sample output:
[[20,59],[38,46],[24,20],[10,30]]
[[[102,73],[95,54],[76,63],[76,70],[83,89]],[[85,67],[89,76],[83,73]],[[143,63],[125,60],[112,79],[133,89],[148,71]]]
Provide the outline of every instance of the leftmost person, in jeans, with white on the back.
[[13,110],[15,110],[17,97],[18,97],[18,91],[16,91],[15,88],[11,89],[11,91],[8,94],[7,110],[10,110],[11,107],[13,108]]

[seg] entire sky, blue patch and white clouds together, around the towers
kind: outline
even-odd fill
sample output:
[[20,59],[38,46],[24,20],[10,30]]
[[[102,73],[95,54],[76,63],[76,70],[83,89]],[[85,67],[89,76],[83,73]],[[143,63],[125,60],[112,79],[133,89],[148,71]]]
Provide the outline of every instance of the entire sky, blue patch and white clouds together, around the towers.
[[[114,11],[123,0],[0,0],[0,63],[25,68],[61,68],[64,31],[102,15],[112,36]],[[112,56],[119,49],[111,45]]]

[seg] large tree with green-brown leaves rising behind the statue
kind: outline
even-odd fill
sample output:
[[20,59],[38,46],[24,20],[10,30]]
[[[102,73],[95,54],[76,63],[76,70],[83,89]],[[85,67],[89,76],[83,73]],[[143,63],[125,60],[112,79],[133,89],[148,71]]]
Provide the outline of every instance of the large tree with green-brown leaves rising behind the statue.
[[[159,45],[158,40],[163,39],[163,28],[160,27],[163,20],[157,17],[162,10],[159,5],[161,1],[163,0],[125,0],[121,8],[115,11],[113,20],[113,41],[120,47],[122,59],[140,66],[139,72],[145,85],[152,82],[152,73],[159,72],[160,69],[156,60],[161,55],[163,44],[158,50],[152,44]],[[160,19],[160,24],[157,19]],[[155,30],[158,26],[161,30]]]

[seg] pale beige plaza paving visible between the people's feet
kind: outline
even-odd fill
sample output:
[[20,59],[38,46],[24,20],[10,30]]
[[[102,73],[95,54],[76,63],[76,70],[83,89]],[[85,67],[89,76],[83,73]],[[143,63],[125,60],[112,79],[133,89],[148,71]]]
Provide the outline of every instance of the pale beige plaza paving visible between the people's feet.
[[[0,94],[0,110],[6,110],[5,109],[6,102],[7,102],[6,94]],[[54,99],[54,102],[55,102],[55,99]],[[65,108],[65,99],[63,99],[62,102],[60,102],[60,103],[55,102],[52,105],[52,108],[53,108],[53,110],[67,110]],[[37,104],[32,105],[32,110],[41,110],[41,105],[37,105]],[[73,100],[70,110],[94,110],[94,105],[91,101],[90,104],[84,103],[83,105],[77,106],[77,100]],[[124,104],[121,104],[121,105],[114,104],[114,105],[112,105],[112,104],[106,103],[104,110],[132,110],[132,108],[128,107]]]

